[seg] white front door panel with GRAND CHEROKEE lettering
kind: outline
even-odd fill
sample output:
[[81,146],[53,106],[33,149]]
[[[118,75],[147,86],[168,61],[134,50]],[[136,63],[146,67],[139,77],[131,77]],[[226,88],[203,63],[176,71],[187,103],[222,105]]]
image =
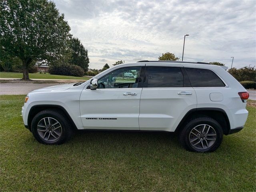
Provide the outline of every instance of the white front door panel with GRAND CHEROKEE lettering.
[[[84,89],[80,97],[84,128],[139,130],[141,91],[142,88]],[[129,92],[134,95],[124,95]]]

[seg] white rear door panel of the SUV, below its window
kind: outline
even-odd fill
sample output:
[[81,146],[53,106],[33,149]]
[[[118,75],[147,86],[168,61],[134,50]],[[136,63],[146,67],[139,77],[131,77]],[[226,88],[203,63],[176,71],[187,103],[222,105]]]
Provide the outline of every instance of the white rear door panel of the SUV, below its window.
[[[192,94],[178,94],[180,92]],[[143,88],[140,98],[140,130],[174,131],[186,112],[193,108],[196,108],[193,88]]]

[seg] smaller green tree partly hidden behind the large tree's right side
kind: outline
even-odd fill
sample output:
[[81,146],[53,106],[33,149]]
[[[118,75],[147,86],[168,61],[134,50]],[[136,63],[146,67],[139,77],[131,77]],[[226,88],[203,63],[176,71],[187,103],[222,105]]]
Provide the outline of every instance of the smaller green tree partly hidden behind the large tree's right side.
[[78,38],[72,38],[70,40],[70,49],[70,63],[80,66],[85,72],[87,72],[89,66],[88,50],[84,48],[83,44]]

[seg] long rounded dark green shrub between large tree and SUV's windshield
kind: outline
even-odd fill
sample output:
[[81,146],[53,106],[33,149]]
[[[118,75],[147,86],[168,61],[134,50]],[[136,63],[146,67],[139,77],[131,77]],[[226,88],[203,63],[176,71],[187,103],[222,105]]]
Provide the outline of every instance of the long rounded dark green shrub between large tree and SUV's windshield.
[[77,65],[63,64],[63,65],[50,65],[48,72],[53,75],[67,75],[82,77],[84,75],[84,70]]

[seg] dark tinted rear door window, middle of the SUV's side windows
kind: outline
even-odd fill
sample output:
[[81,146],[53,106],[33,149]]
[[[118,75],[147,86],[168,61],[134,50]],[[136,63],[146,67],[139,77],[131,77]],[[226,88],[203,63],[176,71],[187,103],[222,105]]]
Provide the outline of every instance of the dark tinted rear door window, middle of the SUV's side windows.
[[183,74],[179,67],[146,67],[145,87],[183,87]]

